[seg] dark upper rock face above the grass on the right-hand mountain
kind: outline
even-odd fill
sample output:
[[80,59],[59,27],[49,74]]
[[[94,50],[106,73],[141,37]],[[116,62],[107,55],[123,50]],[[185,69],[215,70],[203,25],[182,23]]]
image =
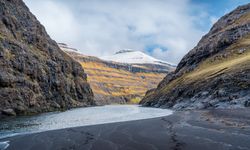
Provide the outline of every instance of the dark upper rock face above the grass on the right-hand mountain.
[[244,20],[245,18],[237,22],[238,19],[249,12],[250,4],[241,6],[223,16],[210,32],[202,37],[198,45],[184,56],[177,66],[176,74],[180,76],[182,73],[193,70],[203,60],[224,51],[237,40],[249,34],[250,22]]

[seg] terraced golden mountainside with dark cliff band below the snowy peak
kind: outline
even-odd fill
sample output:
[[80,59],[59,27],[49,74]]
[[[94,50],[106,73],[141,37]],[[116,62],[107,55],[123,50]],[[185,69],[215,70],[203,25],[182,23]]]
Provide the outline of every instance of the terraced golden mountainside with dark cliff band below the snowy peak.
[[[137,64],[136,60],[133,64],[132,61],[130,63],[107,61],[72,51],[74,48],[66,44],[60,43],[59,46],[63,46],[61,49],[83,66],[93,89],[94,99],[99,105],[138,103],[147,90],[155,88],[167,73],[174,70],[174,67],[165,63]],[[130,53],[131,57],[135,57],[131,54],[133,53]]]

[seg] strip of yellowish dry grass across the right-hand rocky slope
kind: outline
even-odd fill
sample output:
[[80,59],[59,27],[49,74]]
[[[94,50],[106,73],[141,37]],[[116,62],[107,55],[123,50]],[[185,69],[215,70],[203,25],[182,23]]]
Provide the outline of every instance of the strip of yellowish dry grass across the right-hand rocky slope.
[[[225,50],[228,54],[226,57],[215,59],[220,55],[218,54],[205,60],[195,70],[173,80],[159,92],[170,92],[171,89],[178,85],[202,83],[215,76],[245,69],[246,67],[250,68],[249,46],[250,36],[246,36]],[[244,49],[244,53],[240,54],[240,49]]]

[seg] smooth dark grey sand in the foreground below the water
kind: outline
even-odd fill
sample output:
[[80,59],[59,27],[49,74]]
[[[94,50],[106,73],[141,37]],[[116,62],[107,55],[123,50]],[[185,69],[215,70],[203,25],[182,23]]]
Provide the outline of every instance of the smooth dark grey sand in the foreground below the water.
[[250,150],[250,109],[171,116],[19,135],[8,150]]

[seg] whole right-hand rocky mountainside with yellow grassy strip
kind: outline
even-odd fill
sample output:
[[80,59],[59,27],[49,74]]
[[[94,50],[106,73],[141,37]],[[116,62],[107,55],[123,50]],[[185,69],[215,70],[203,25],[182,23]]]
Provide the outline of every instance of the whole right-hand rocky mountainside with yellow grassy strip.
[[250,106],[250,4],[215,23],[140,103],[177,110]]

